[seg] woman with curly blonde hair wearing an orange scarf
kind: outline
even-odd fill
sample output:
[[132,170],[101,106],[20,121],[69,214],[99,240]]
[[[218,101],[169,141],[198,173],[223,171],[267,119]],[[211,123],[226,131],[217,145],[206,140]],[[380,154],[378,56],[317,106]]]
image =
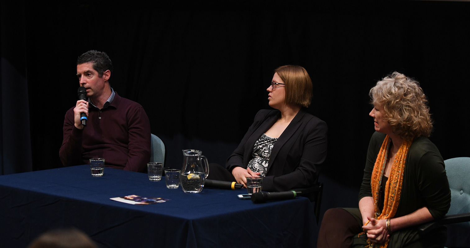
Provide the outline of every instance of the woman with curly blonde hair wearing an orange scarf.
[[369,91],[376,132],[369,143],[359,208],[330,209],[318,248],[444,247],[446,228],[421,236],[417,225],[445,216],[444,161],[428,137],[432,121],[419,83],[398,72]]

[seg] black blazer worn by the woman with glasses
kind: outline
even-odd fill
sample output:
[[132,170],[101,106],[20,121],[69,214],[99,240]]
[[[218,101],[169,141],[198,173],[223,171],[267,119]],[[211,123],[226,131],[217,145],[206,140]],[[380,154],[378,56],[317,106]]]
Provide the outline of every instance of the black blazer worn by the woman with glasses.
[[[279,110],[260,110],[242,142],[228,157],[226,168],[247,168],[258,138],[281,117]],[[274,143],[263,191],[307,188],[317,183],[327,153],[328,127],[323,120],[301,109]]]

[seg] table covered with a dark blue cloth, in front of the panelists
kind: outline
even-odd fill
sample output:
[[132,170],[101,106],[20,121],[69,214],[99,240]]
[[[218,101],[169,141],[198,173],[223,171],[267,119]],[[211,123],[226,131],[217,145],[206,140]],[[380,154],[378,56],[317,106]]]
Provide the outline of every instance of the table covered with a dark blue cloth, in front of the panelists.
[[[305,197],[255,204],[246,189],[168,189],[147,174],[89,165],[0,176],[0,244],[26,247],[52,228],[76,227],[100,247],[315,247],[317,225]],[[171,199],[132,205],[112,197]]]

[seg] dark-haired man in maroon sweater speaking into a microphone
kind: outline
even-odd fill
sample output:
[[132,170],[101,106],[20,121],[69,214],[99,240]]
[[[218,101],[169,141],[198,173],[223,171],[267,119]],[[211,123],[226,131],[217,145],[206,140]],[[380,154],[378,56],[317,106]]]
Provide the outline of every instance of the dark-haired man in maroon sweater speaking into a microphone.
[[[59,156],[64,166],[105,158],[105,166],[146,172],[150,160],[150,123],[143,107],[110,87],[112,62],[95,50],[77,59],[79,86],[86,100],[65,113]],[[80,92],[83,94],[83,88]],[[86,116],[86,118],[84,118]],[[83,118],[82,118],[83,117]],[[82,120],[86,119],[86,126]]]

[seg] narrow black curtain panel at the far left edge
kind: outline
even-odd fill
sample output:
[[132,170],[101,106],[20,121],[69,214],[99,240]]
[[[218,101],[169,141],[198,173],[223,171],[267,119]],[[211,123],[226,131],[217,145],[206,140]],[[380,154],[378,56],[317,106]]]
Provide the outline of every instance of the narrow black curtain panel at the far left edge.
[[32,169],[26,81],[25,12],[0,2],[0,175]]

